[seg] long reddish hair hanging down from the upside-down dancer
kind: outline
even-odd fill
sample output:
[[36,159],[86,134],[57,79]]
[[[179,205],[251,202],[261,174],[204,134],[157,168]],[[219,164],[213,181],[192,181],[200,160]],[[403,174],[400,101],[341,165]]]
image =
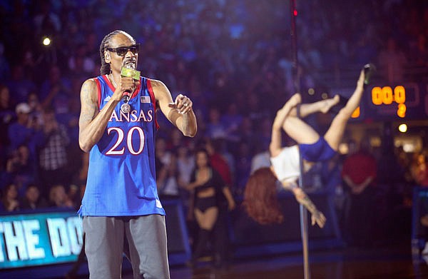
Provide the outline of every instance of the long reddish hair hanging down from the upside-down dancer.
[[248,178],[245,186],[243,207],[260,224],[284,220],[277,199],[276,181],[270,168],[259,168]]

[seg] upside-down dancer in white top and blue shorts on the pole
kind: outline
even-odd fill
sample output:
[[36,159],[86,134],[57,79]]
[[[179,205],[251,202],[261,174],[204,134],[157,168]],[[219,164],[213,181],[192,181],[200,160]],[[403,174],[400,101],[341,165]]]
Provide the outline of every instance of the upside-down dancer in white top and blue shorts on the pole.
[[[364,83],[365,69],[362,69],[354,93],[333,118],[324,136],[320,136],[302,118],[312,113],[327,113],[330,108],[341,103],[340,96],[336,95],[315,103],[301,103],[300,93],[295,93],[277,111],[272,124],[272,138],[269,146],[272,166],[255,171],[245,186],[243,206],[251,218],[260,224],[282,222],[284,217],[280,212],[276,191],[276,181],[280,181],[282,187],[292,191],[297,202],[310,211],[312,225],[317,223],[320,228],[325,225],[325,215],[317,210],[305,191],[297,185],[297,179],[315,162],[326,161],[335,156],[347,121],[360,104]],[[281,146],[281,130],[284,130],[297,144],[290,147]],[[300,163],[302,163],[302,169]]]

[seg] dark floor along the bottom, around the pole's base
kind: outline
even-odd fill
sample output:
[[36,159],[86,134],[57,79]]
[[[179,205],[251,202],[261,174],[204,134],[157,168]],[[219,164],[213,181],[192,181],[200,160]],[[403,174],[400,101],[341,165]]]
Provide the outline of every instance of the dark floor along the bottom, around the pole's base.
[[[229,268],[219,270],[208,263],[198,268],[173,266],[173,279],[292,279],[304,278],[302,255],[278,255],[269,258],[235,261]],[[310,253],[311,278],[428,278],[428,265],[423,259],[412,264],[409,245],[388,248],[346,248]],[[132,278],[132,275],[123,275]]]

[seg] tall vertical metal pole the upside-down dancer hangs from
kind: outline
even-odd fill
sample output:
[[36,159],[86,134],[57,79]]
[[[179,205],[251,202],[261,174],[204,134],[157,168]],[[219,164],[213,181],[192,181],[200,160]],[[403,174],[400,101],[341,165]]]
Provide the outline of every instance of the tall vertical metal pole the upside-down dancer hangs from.
[[[290,14],[291,14],[291,49],[292,49],[292,65],[293,65],[293,76],[294,76],[294,88],[295,92],[300,92],[300,73],[298,70],[297,60],[297,34],[296,34],[296,1],[290,0]],[[299,115],[297,117],[300,117]],[[302,154],[299,153],[300,157],[300,176],[299,185],[303,188],[303,159]],[[309,252],[308,252],[308,240],[307,240],[307,209],[299,203],[300,206],[300,235],[302,238],[302,250],[303,250],[303,269],[305,279],[310,279],[310,267],[309,267]]]

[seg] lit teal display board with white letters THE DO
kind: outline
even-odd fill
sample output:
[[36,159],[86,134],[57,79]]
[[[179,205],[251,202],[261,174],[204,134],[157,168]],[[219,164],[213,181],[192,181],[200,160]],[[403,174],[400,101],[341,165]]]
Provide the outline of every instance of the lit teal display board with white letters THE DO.
[[77,260],[82,220],[74,211],[0,215],[0,269]]

